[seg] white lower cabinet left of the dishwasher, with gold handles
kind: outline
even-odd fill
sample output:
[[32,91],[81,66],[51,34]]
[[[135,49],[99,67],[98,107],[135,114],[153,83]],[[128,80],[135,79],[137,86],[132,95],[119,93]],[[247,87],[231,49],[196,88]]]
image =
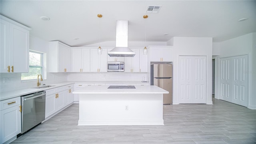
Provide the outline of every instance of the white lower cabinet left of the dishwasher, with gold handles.
[[20,97],[1,101],[0,126],[1,144],[10,143],[21,132]]

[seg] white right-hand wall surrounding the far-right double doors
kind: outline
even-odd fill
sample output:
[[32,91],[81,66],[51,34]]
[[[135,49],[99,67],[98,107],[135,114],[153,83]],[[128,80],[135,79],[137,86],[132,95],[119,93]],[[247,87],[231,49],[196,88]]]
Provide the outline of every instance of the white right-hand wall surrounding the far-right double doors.
[[[256,109],[256,33],[250,33],[237,38],[232,38],[224,42],[220,42],[220,56],[216,57],[216,60],[219,58],[227,56],[238,56],[243,54],[248,54],[249,59],[249,102],[248,108]],[[218,64],[217,62],[215,64]],[[218,66],[216,67],[218,68]],[[216,75],[218,77],[218,74]],[[217,82],[216,82],[217,83]],[[217,89],[217,87],[215,87]],[[217,90],[219,92],[219,90]],[[217,92],[216,92],[217,94]],[[216,96],[219,98],[219,95]]]

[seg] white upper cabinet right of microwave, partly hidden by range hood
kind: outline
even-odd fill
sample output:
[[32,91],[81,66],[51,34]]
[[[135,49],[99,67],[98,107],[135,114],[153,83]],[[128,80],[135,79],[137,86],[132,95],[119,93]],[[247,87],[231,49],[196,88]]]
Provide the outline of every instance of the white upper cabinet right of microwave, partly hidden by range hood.
[[140,72],[140,50],[132,49],[136,52],[134,57],[124,58],[124,72]]

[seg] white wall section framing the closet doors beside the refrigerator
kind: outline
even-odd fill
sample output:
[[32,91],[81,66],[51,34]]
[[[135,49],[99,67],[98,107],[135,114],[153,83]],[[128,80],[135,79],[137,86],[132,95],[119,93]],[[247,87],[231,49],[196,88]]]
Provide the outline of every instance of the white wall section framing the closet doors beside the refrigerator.
[[173,40],[173,104],[179,104],[179,56],[207,56],[206,104],[212,104],[212,38],[174,37]]

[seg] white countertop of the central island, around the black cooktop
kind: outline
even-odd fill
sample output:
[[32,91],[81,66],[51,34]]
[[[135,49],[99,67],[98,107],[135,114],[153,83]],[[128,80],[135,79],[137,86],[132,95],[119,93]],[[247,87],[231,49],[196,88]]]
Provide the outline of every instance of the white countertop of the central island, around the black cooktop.
[[108,88],[108,86],[89,86],[73,92],[73,94],[168,94],[158,86],[135,86],[135,88]]

